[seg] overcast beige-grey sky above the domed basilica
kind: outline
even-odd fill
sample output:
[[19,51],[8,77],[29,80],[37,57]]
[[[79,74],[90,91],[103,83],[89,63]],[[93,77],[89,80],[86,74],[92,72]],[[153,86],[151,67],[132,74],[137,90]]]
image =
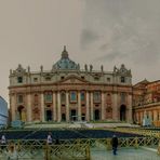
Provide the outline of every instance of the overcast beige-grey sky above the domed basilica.
[[79,63],[160,79],[160,0],[0,0],[0,95],[18,64],[50,70],[63,45]]

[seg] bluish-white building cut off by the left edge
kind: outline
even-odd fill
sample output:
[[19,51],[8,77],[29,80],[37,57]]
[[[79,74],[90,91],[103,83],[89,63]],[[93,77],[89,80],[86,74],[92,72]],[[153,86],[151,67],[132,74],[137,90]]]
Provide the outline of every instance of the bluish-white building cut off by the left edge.
[[0,96],[0,126],[8,124],[8,104]]

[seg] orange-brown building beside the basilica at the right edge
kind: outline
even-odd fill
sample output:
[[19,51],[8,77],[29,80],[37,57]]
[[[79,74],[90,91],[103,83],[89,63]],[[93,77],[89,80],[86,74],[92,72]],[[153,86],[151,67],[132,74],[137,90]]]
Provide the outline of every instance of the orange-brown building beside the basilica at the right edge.
[[160,126],[160,80],[144,80],[133,86],[133,115],[139,124],[147,117],[151,124]]

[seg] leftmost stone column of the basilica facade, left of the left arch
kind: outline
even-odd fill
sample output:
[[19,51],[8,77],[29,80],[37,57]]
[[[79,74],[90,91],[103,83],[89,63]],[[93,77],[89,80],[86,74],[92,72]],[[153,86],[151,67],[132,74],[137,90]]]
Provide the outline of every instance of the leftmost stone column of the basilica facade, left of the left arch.
[[11,117],[12,117],[12,121],[16,120],[16,96],[15,94],[11,95]]

